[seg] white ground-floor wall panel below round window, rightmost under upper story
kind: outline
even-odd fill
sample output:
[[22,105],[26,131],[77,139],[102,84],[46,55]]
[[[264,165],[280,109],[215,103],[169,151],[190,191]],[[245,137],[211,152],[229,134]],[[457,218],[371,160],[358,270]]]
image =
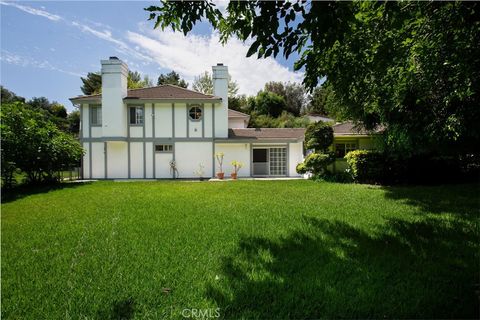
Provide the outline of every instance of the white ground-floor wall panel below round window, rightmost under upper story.
[[212,177],[213,145],[211,142],[176,142],[175,162],[180,178],[197,178],[194,171],[204,166],[205,177]]

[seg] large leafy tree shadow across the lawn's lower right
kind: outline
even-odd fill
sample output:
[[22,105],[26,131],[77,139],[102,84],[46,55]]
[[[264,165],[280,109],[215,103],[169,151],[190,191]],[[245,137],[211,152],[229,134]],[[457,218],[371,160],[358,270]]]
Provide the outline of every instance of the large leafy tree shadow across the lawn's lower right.
[[243,238],[207,296],[224,318],[475,318],[478,234],[458,219],[390,219],[366,233],[304,217],[277,241]]

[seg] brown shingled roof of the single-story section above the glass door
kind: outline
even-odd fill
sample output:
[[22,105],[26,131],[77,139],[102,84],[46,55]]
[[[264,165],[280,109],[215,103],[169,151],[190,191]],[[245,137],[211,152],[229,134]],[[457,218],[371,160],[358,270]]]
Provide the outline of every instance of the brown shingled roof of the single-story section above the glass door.
[[303,139],[304,136],[305,136],[304,128],[228,129],[229,139],[249,139],[249,140]]

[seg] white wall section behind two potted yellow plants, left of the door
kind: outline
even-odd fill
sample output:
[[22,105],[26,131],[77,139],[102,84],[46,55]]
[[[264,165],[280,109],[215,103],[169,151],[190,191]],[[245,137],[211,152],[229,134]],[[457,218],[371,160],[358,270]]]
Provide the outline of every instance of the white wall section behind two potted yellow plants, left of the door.
[[[250,144],[249,143],[216,143],[215,153],[223,152],[223,171],[225,177],[230,177],[233,172],[231,162],[233,160],[243,163],[243,168],[238,172],[239,177],[250,176]],[[215,171],[218,172],[218,163],[215,162]]]

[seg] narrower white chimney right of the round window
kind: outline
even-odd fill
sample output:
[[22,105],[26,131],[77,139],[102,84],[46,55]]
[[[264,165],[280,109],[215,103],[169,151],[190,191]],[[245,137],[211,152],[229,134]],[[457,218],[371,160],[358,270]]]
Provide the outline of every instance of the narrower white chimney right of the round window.
[[215,137],[228,137],[228,67],[218,63],[213,70],[213,95],[222,98],[215,105]]

